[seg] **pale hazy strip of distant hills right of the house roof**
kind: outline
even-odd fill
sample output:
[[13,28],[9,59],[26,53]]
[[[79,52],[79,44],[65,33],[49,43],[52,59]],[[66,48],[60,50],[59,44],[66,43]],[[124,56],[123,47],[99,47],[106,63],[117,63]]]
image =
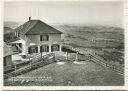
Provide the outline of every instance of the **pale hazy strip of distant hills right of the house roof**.
[[79,32],[120,32],[123,33],[124,29],[120,27],[110,26],[84,26],[84,25],[54,25],[55,28],[62,30],[63,32],[79,31]]

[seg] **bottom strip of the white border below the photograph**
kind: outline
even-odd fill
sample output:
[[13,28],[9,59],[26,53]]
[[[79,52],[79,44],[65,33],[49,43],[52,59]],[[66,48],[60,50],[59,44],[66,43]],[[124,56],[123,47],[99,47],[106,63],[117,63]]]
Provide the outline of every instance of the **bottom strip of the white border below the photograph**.
[[4,90],[126,90],[124,86],[23,86],[4,87]]

